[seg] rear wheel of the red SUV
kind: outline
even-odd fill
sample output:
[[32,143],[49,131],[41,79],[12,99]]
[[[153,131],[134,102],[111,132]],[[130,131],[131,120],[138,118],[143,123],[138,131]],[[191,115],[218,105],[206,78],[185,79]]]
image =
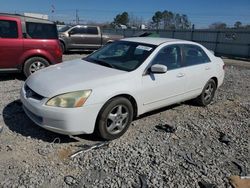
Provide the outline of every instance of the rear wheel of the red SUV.
[[25,61],[23,73],[29,77],[32,73],[49,66],[49,62],[42,57],[32,57]]

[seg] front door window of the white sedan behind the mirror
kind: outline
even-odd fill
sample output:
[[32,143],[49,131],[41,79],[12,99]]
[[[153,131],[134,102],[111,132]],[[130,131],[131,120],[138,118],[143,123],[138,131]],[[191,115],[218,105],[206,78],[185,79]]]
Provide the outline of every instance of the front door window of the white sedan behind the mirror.
[[181,67],[181,49],[179,46],[167,46],[161,49],[152,64],[166,65],[168,70]]

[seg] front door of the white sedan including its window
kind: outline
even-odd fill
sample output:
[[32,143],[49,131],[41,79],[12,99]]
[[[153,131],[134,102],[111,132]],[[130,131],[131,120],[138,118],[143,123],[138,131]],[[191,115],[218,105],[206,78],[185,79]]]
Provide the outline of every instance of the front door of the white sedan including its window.
[[178,45],[164,47],[152,64],[166,65],[168,71],[163,74],[148,73],[142,77],[144,112],[182,101],[187,80],[184,69],[181,68],[180,52]]

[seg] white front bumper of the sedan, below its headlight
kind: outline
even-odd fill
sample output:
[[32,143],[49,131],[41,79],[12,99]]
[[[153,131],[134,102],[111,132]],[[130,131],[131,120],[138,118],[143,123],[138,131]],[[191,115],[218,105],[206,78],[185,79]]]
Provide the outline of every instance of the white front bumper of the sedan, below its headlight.
[[27,116],[37,125],[66,135],[91,134],[94,132],[97,115],[102,104],[85,105],[79,108],[46,106],[47,98],[27,98],[22,87],[21,101]]

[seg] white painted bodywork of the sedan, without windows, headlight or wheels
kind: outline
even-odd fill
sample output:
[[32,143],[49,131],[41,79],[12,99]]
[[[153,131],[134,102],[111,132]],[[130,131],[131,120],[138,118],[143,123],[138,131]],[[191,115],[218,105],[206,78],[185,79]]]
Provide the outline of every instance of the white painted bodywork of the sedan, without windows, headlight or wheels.
[[[176,39],[129,38],[123,41],[158,45],[145,62],[132,72],[121,71],[78,59],[50,66],[32,74],[26,85],[44,99],[37,101],[26,97],[25,86],[21,101],[26,114],[39,126],[61,134],[93,133],[96,119],[103,105],[118,95],[134,98],[139,116],[145,112],[199,96],[206,82],[215,77],[218,87],[224,79],[223,61],[197,43]],[[164,74],[145,74],[155,55],[172,44],[200,46],[211,62],[182,67]],[[59,94],[92,90],[79,108],[46,106],[46,102]],[[42,121],[39,118],[42,118]]]

